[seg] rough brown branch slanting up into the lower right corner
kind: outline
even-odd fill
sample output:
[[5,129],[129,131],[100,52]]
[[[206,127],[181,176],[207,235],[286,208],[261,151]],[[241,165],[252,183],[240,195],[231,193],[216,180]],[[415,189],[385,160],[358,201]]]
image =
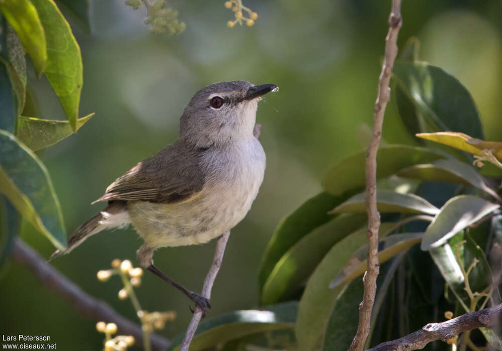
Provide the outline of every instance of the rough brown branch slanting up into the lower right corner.
[[462,314],[441,323],[429,323],[409,335],[393,341],[386,341],[368,351],[417,350],[434,340],[447,341],[462,331],[495,325],[502,314],[502,303],[491,308]]

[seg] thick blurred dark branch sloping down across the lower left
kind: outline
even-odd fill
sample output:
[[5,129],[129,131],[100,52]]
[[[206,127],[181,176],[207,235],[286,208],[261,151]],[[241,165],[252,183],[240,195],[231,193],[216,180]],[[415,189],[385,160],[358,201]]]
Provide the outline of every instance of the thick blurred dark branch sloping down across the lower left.
[[[138,346],[143,345],[141,326],[118,314],[106,302],[97,300],[85,293],[77,284],[48,264],[42,256],[20,238],[14,240],[11,257],[14,261],[26,266],[42,285],[53,289],[64,297],[82,315],[94,318],[97,321],[113,322],[117,325],[121,334],[133,335],[136,344]],[[156,351],[164,351],[171,344],[169,340],[158,335],[150,335],[150,341]]]

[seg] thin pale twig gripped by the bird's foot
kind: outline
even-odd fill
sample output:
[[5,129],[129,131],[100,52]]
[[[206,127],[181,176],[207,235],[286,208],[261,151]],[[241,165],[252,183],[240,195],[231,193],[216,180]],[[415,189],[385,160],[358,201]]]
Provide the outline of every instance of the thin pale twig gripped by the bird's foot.
[[[223,254],[225,253],[226,242],[228,241],[229,236],[230,231],[227,231],[218,239],[218,242],[216,243],[213,263],[211,264],[211,268],[209,268],[209,272],[207,272],[206,278],[204,279],[204,286],[202,287],[202,296],[207,299],[211,297],[211,289],[213,287],[214,279],[216,278],[221,266]],[[193,312],[192,320],[190,321],[190,324],[188,324],[185,337],[183,338],[181,351],[188,351],[188,347],[190,346],[190,342],[192,342],[192,338],[195,335],[195,330],[197,330],[197,326],[199,325],[201,318],[202,310],[199,307],[196,307]]]

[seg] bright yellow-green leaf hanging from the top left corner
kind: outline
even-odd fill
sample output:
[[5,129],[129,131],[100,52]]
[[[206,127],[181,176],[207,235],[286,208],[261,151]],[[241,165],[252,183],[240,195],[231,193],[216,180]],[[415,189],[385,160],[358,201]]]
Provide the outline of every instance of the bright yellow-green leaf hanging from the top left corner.
[[37,74],[42,74],[47,63],[47,43],[37,9],[29,0],[16,0],[0,2],[0,11],[30,54]]

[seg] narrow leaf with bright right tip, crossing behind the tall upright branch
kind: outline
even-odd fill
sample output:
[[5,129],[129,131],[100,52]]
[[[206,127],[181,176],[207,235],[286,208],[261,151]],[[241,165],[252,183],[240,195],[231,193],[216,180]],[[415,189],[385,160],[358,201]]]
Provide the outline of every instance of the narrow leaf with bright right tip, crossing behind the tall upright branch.
[[[401,194],[391,190],[381,189],[376,192],[376,206],[379,212],[424,213],[435,215],[439,209],[427,200],[415,194]],[[354,195],[344,203],[335,207],[330,214],[366,212],[364,193]]]

